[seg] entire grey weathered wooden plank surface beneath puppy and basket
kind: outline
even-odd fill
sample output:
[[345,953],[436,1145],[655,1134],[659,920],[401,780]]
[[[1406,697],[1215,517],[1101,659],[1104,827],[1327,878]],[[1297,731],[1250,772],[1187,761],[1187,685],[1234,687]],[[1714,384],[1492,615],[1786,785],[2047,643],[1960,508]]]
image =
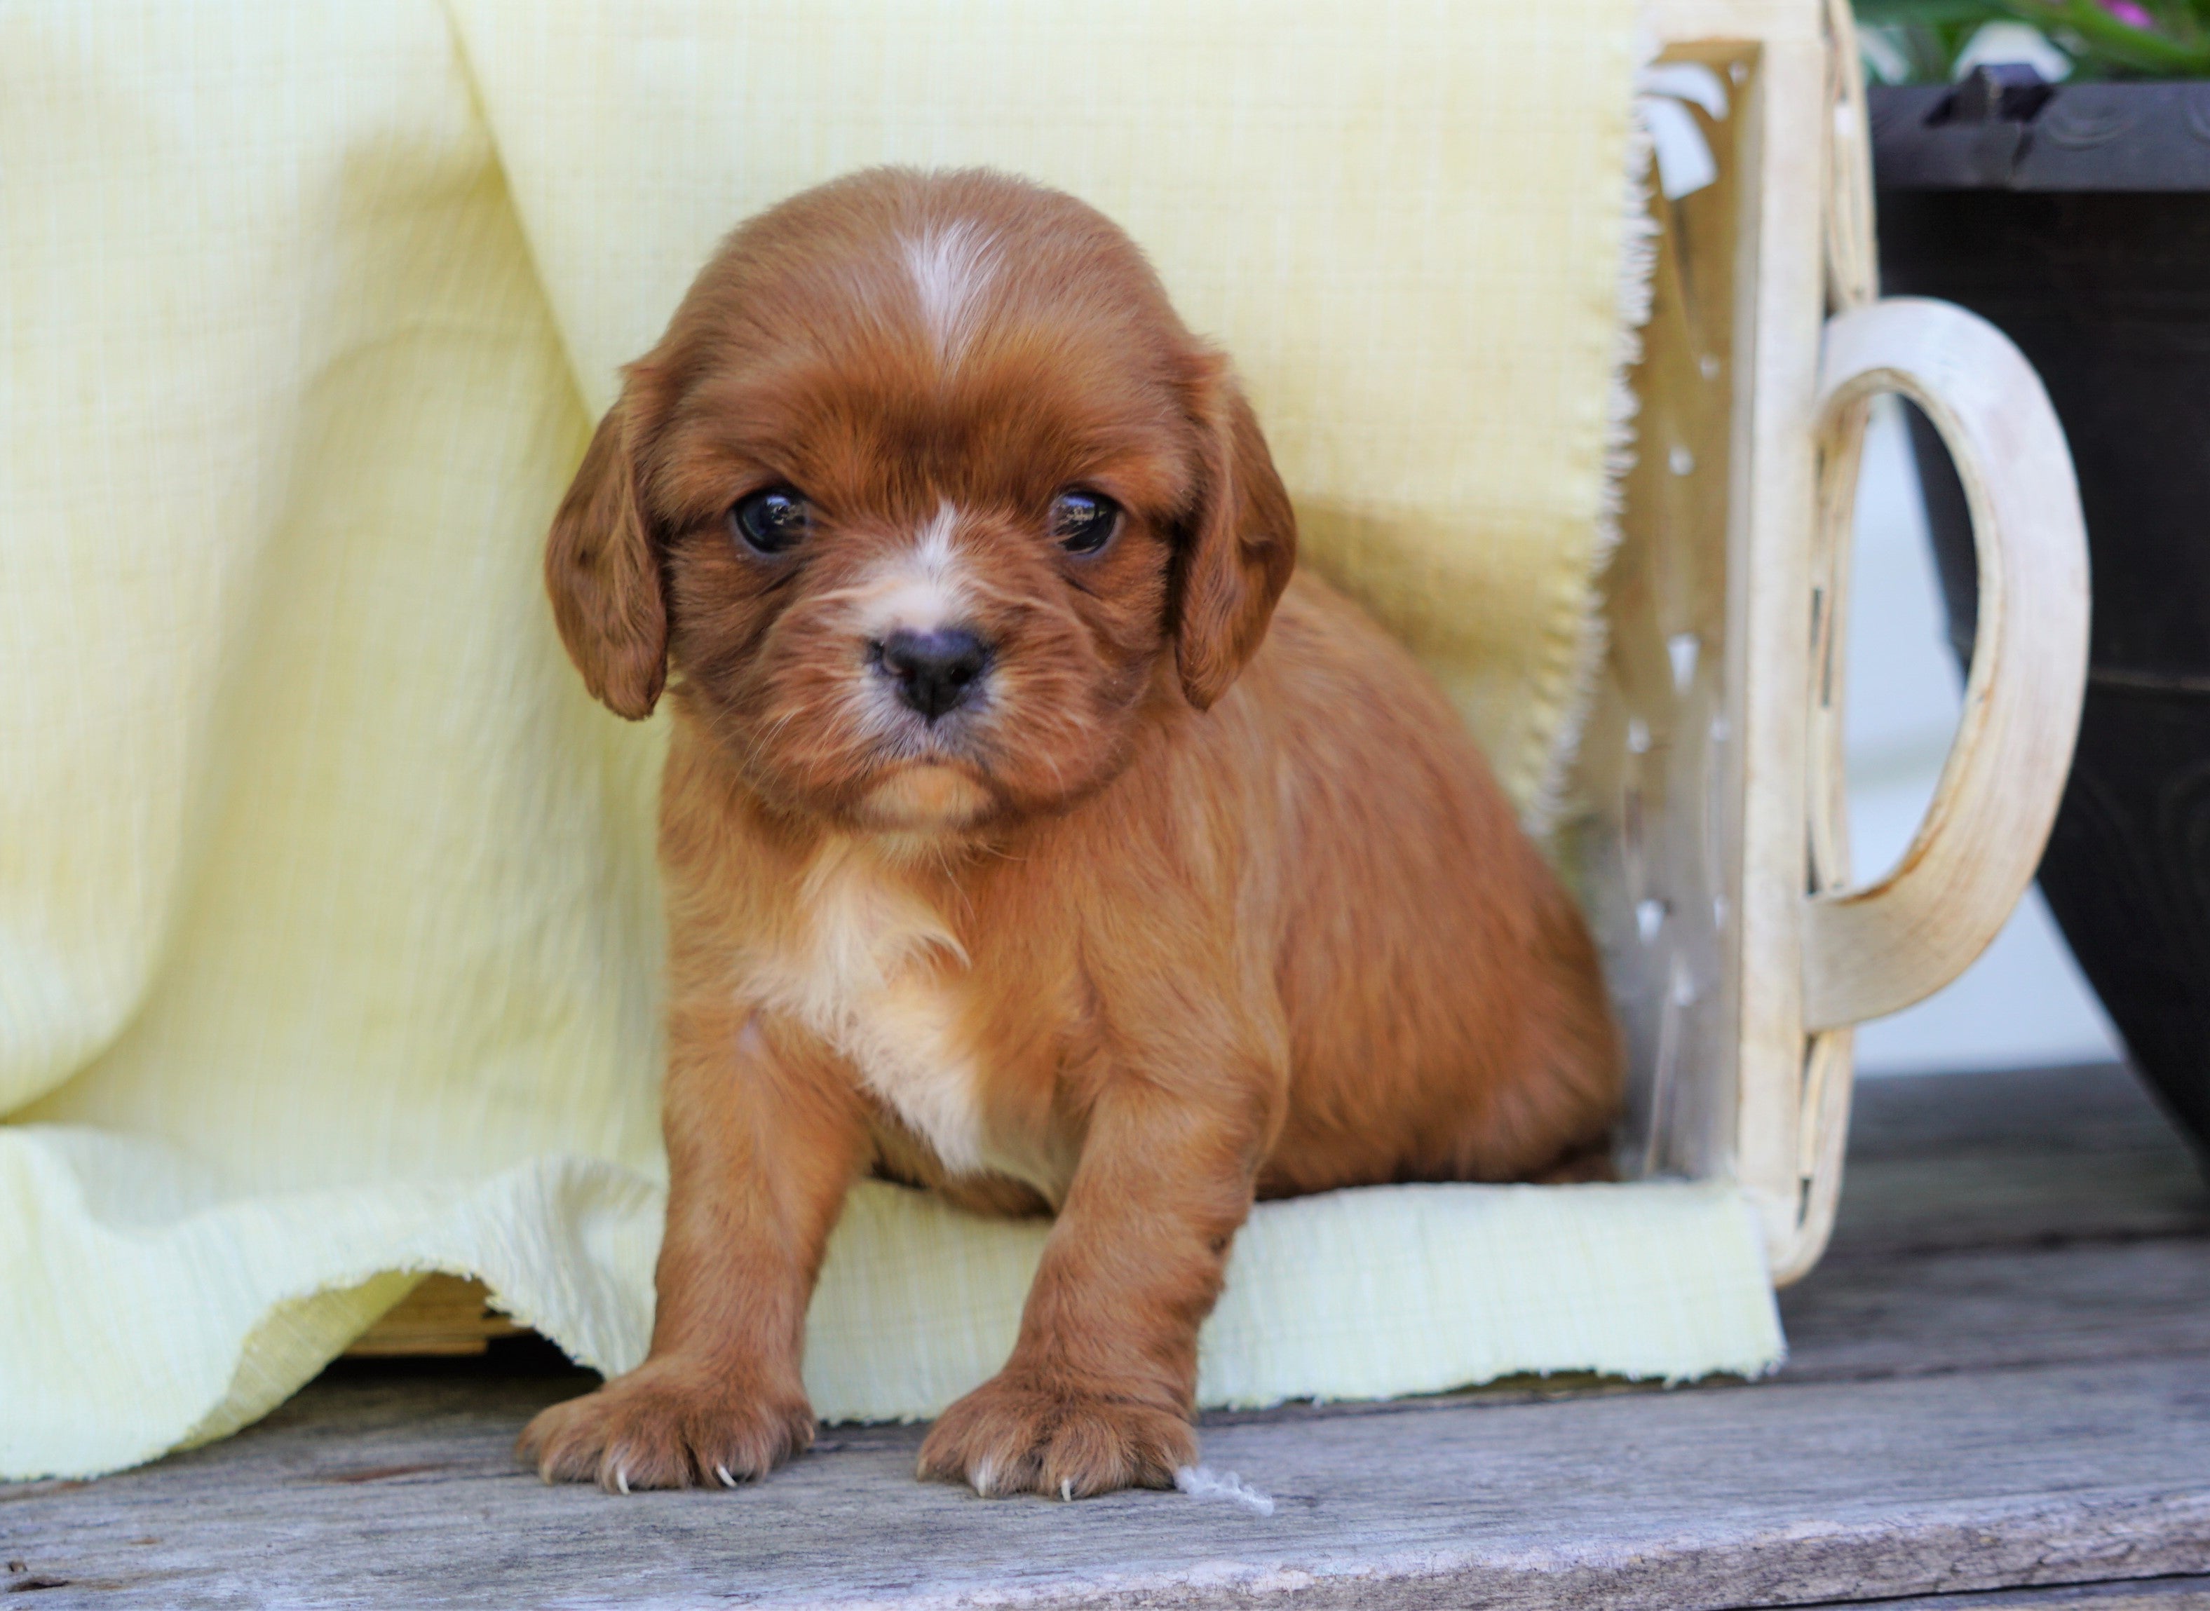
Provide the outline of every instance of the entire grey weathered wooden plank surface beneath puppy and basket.
[[[2201,1184],[2161,1167],[2188,1162],[2122,1076],[2031,1085],[1867,1085],[1845,1255],[1786,1295],[1777,1381],[1209,1419],[1207,1463],[1266,1489],[1264,1518],[1178,1494],[924,1487],[915,1428],[829,1428],[738,1494],[546,1489],[508,1443],[588,1377],[495,1346],[340,1366],[267,1423],[144,1472],[0,1487],[0,1587],[53,1584],[27,1604],[55,1609],[2203,1604]],[[2038,1136],[2024,1109],[2058,1096],[2066,1123]],[[2113,1154],[2161,1162],[2060,1169]],[[1954,1158],[1987,1162],[1980,1184],[2000,1189],[1982,1204],[2071,1178],[2071,1218],[2027,1213],[2040,1229],[2020,1242],[1967,1213],[1993,1240],[1960,1246],[1938,1180]],[[2086,1178],[2106,1189],[2080,1196]],[[2161,1207],[2144,1218],[2128,1182]],[[1894,1200],[1918,1204],[1918,1229]],[[2113,1580],[2144,1582],[2040,1587]]]

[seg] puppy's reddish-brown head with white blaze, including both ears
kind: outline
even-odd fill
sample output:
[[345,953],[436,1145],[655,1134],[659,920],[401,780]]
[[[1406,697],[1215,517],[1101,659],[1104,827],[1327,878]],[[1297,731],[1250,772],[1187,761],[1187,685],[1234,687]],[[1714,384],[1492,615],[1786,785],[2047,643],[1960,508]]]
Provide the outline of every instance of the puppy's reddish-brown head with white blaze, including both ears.
[[667,678],[769,802],[1048,811],[1209,707],[1295,557],[1227,362],[1098,212],[875,170],[743,225],[630,367],[546,579],[592,694]]

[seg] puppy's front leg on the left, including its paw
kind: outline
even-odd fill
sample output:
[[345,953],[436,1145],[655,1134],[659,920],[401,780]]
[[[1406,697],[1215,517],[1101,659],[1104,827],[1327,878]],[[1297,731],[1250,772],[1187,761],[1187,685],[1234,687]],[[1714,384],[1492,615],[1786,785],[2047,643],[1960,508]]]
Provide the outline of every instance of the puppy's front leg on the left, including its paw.
[[652,1352],[528,1423],[517,1454],[548,1483],[736,1487],[813,1443],[798,1359],[864,1147],[851,1085],[725,1003],[678,1005],[667,1034]]

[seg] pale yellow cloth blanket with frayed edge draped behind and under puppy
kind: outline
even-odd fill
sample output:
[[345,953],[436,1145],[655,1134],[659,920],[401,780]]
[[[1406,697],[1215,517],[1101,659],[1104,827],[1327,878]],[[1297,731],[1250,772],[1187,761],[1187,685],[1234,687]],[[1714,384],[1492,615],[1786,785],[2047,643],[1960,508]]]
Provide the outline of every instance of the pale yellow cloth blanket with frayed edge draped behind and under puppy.
[[[614,367],[789,190],[988,161],[1120,219],[1249,376],[1311,561],[1540,815],[1631,11],[0,11],[0,1476],[234,1430],[427,1268],[641,1355],[661,734],[586,698],[537,552]],[[815,1405],[986,1375],[1036,1238],[864,1187]],[[1724,1187],[1370,1191],[1253,1220],[1204,1394],[1777,1352]]]

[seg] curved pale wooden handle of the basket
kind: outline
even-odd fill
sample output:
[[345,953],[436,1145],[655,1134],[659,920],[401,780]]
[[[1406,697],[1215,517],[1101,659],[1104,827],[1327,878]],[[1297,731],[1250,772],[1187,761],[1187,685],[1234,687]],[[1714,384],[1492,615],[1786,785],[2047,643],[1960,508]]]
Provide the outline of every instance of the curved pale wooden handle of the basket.
[[2033,365],[1985,318],[1898,296],[1828,323],[1821,440],[1883,391],[1916,402],[1956,460],[1980,630],[1965,714],[1912,846],[1876,884],[1806,897],[1810,1030],[1898,1012],[1987,948],[2049,842],[2086,694],[2086,522]]

